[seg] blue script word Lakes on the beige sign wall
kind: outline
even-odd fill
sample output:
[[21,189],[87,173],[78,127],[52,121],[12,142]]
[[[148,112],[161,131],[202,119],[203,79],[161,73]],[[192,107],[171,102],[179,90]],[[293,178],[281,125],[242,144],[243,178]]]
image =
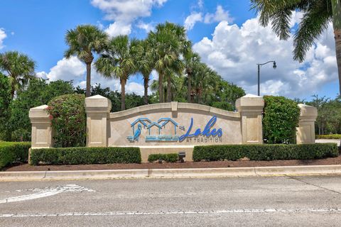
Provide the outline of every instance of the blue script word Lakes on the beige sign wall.
[[192,127],[193,127],[193,118],[191,118],[190,119],[190,126],[188,127],[187,133],[181,135],[179,137],[179,141],[181,142],[181,141],[185,140],[185,138],[196,137],[198,135],[205,135],[206,137],[209,137],[209,136],[222,137],[222,128],[219,128],[218,130],[213,128],[211,131],[211,128],[215,125],[216,121],[217,121],[217,116],[212,116],[210,121],[207,122],[203,131],[201,131],[200,128],[197,128],[195,130],[195,133],[190,134],[190,131],[192,131]]

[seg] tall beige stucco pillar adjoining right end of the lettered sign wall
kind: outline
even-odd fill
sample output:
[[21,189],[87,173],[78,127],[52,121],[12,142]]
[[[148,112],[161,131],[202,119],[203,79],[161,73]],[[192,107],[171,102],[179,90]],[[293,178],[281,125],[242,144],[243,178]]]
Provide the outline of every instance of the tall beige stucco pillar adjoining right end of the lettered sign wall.
[[242,143],[263,143],[263,97],[247,94],[237,99],[236,107],[242,118]]

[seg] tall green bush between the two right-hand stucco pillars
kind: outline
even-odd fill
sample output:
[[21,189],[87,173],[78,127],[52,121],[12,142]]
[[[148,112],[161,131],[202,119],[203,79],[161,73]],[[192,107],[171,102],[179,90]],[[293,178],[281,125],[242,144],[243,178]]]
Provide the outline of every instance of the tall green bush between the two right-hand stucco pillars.
[[296,143],[300,108],[283,96],[264,96],[263,132],[266,143]]

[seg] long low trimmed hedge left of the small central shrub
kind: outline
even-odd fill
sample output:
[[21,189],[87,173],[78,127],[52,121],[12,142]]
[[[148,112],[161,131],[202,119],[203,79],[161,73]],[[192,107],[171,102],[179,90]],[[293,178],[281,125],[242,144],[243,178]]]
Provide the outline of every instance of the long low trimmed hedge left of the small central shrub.
[[31,165],[141,163],[140,148],[42,148],[31,150]]

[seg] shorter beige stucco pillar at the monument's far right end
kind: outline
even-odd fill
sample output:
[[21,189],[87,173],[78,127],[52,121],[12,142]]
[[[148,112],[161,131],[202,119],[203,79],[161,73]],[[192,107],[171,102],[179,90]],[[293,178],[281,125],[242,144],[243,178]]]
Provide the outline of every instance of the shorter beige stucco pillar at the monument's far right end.
[[298,104],[298,107],[301,109],[301,114],[296,128],[296,143],[315,143],[315,121],[318,117],[318,109],[305,104]]

